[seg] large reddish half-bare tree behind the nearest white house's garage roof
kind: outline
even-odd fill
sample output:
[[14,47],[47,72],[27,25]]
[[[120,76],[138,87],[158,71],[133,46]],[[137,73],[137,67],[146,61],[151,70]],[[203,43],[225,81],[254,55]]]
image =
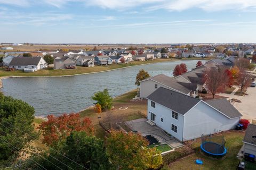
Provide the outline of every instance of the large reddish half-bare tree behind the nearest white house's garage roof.
[[229,81],[229,78],[223,67],[209,67],[204,72],[205,86],[211,92],[212,98],[215,94],[223,92]]

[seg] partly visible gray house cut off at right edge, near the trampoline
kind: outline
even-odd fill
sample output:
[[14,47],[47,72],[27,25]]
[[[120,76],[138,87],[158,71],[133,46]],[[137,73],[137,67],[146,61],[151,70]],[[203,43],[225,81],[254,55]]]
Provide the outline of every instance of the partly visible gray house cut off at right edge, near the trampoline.
[[244,136],[244,157],[253,158],[256,161],[256,125],[249,124]]

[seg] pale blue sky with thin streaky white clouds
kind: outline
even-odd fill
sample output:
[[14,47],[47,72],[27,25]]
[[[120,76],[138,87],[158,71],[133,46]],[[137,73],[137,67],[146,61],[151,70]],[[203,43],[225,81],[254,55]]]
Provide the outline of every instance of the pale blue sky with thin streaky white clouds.
[[0,0],[1,43],[256,43],[256,0]]

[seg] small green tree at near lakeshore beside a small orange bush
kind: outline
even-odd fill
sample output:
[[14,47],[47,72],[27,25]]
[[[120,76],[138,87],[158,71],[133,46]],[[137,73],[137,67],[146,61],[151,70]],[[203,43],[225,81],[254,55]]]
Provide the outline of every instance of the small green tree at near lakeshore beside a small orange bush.
[[109,111],[113,106],[113,98],[109,95],[108,89],[96,92],[92,96],[92,99],[97,101],[97,103],[94,104],[99,104],[103,111]]

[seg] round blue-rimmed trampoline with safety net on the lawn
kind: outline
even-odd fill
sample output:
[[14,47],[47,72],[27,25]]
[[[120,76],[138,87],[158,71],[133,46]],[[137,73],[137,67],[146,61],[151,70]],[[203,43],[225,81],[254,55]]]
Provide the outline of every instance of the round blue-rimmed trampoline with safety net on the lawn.
[[[220,138],[219,138],[220,139]],[[213,158],[222,158],[227,154],[225,140],[214,140],[214,137],[202,137],[201,151],[203,154]]]

